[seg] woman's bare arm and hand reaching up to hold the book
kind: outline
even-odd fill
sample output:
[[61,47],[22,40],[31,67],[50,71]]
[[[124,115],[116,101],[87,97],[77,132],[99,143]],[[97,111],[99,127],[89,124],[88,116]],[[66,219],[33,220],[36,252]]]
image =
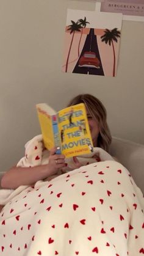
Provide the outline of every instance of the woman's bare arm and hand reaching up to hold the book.
[[57,148],[49,152],[49,163],[34,167],[12,167],[1,179],[2,188],[16,189],[21,185],[32,185],[38,180],[44,180],[65,167],[65,156],[56,154]]

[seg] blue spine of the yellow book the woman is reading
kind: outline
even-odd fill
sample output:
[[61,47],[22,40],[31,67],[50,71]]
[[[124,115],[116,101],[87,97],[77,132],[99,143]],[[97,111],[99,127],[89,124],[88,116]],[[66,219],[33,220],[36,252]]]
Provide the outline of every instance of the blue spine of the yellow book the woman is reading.
[[59,126],[57,123],[57,115],[52,115],[52,129],[54,134],[54,146],[59,147],[59,149],[57,149],[56,151],[56,154],[61,154],[61,144],[59,136]]

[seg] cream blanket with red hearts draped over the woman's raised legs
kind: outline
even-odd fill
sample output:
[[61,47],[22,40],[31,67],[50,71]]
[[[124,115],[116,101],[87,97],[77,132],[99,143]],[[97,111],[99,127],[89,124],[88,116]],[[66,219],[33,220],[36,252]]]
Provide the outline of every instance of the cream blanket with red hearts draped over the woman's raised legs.
[[143,196],[115,161],[26,188],[0,216],[3,256],[144,254]]

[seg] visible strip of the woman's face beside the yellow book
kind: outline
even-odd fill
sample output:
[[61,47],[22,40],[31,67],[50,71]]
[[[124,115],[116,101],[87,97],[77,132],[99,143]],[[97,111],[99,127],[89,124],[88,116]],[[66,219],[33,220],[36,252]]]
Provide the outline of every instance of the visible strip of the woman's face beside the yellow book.
[[98,141],[98,135],[99,135],[99,125],[96,120],[93,119],[92,115],[88,113],[87,111],[87,119],[88,119],[88,124],[90,126],[90,133],[92,136],[92,141],[94,147],[97,146],[97,141]]

